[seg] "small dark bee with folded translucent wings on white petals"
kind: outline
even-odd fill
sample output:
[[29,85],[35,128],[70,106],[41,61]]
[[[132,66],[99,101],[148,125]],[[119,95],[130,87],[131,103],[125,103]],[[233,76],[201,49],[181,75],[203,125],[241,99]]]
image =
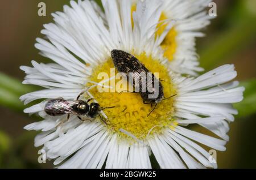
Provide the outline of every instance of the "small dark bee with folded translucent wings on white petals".
[[[46,103],[46,106],[44,107],[44,111],[51,116],[60,116],[68,114],[68,119],[70,117],[70,114],[74,114],[77,115],[80,121],[84,122],[85,120],[83,120],[80,116],[86,115],[86,117],[88,118],[96,118],[97,116],[100,116],[101,118],[101,110],[114,108],[101,108],[101,106],[95,102],[88,104],[93,99],[91,98],[88,101],[81,101],[79,100],[79,97],[81,95],[82,93],[77,97],[76,101],[67,101],[64,100],[64,98],[56,98],[53,100],[49,100]],[[101,120],[105,122],[102,118]]]

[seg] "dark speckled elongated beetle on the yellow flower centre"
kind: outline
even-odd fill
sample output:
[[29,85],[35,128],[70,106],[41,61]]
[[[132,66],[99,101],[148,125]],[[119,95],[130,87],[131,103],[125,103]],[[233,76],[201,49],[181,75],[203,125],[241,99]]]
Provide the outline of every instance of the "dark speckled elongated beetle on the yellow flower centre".
[[[171,96],[168,98],[164,98],[163,85],[154,76],[154,74],[151,73],[151,76],[152,76],[151,80],[144,79],[146,77],[142,76],[142,74],[148,74],[150,73],[150,71],[141,62],[139,62],[139,59],[137,59],[133,55],[126,53],[122,50],[112,50],[111,56],[113,59],[114,66],[115,68],[117,68],[118,72],[122,72],[123,74],[125,74],[127,79],[129,79],[129,74],[134,74],[133,86],[135,89],[139,89],[139,93],[143,99],[144,104],[151,104],[151,106],[152,104],[155,104],[155,108],[156,108],[156,105],[162,100],[166,100],[168,98],[173,97]],[[139,84],[135,83],[138,80],[140,83]],[[147,83],[146,87],[142,87],[143,85],[141,84],[141,81],[143,80],[146,81]],[[158,85],[157,88],[154,87],[155,84]],[[151,88],[151,92],[148,91],[148,87]],[[142,88],[146,88],[146,92],[141,91]],[[158,95],[158,96],[155,98],[150,98],[150,95]],[[152,109],[152,111],[154,109]]]

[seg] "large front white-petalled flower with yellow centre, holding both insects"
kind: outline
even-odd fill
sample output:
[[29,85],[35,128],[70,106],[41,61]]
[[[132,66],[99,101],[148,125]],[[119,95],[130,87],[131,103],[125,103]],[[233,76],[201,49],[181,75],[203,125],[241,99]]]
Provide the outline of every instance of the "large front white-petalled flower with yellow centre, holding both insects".
[[[25,127],[42,131],[35,138],[35,146],[43,145],[47,158],[59,168],[151,168],[151,153],[160,168],[216,168],[197,142],[225,151],[228,122],[237,114],[232,103],[241,101],[244,91],[238,82],[228,83],[237,75],[234,66],[185,78],[171,71],[159,46],[164,33],[155,33],[162,3],[138,2],[133,16],[131,1],[105,0],[102,4],[104,14],[91,1],[71,1],[64,12],[52,14],[55,23],[44,25],[42,31],[48,40],[37,38],[35,46],[54,63],[32,61],[33,67],[21,67],[27,74],[24,84],[47,88],[20,97],[25,104],[46,99],[24,110],[44,118]],[[166,22],[167,29],[173,23]],[[143,104],[138,93],[100,93],[96,87],[90,88],[82,100],[93,97],[102,107],[115,107],[101,112],[107,125],[98,117],[81,122],[71,115],[65,122],[67,115],[52,117],[44,112],[52,98],[72,101],[92,85],[101,86],[101,72],[114,78],[110,72],[113,49],[133,54],[148,70],[159,72],[164,97],[176,96],[160,102],[148,116],[152,108]],[[207,128],[214,137],[189,130],[190,124]]]

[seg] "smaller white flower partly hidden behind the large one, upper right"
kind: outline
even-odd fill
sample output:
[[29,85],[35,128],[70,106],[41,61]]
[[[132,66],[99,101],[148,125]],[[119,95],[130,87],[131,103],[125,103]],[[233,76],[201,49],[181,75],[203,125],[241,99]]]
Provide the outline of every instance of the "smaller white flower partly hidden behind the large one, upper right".
[[[134,1],[132,11],[136,10],[137,2]],[[203,68],[199,67],[195,38],[204,36],[200,30],[209,25],[210,19],[214,18],[205,11],[210,2],[212,1],[163,0],[156,36],[167,34],[160,41],[160,46],[164,50],[164,57],[170,62],[172,71],[193,76],[203,71]],[[175,21],[169,31],[166,31],[167,25],[164,25],[167,19]]]

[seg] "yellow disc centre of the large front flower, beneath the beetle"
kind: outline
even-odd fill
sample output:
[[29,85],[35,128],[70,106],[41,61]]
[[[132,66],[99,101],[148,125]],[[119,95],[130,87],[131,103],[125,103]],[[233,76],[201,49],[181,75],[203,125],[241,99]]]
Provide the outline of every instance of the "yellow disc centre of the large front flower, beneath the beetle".
[[[141,61],[146,68],[152,72],[159,73],[160,83],[163,85],[164,97],[170,97],[176,95],[175,85],[172,83],[167,68],[158,60],[147,57],[145,53],[135,55],[135,57]],[[90,80],[100,83],[102,79],[98,79],[98,74],[104,72],[111,77],[110,69],[114,68],[112,58],[108,58],[103,65],[94,68],[92,77]],[[117,73],[117,71],[115,71]],[[120,79],[114,79],[114,83],[117,84]],[[109,85],[113,84],[108,82]],[[90,84],[87,84],[89,86]],[[127,89],[128,90],[128,89]],[[130,137],[120,129],[129,132],[139,140],[145,140],[153,134],[161,134],[166,127],[172,128],[175,126],[175,121],[172,118],[174,115],[174,103],[175,97],[167,100],[162,100],[150,114],[152,107],[150,104],[144,104],[142,97],[139,93],[133,92],[99,92],[98,88],[90,89],[90,93],[97,100],[101,107],[111,107],[112,109],[105,109],[104,113],[108,119],[108,129],[117,133],[119,137],[129,139]],[[154,105],[153,105],[154,106]],[[148,116],[148,114],[150,114]]]

